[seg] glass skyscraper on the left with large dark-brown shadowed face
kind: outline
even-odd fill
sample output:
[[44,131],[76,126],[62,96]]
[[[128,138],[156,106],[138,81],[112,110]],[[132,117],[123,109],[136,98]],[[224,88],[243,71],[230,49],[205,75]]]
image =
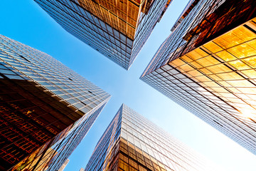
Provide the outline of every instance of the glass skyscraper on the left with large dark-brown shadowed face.
[[0,35],[0,170],[58,170],[110,95],[41,51]]

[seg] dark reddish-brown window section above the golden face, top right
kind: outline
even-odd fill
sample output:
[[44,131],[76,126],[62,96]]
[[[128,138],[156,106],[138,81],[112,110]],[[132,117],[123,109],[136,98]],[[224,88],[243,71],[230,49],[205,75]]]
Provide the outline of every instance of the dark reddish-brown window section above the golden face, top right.
[[189,28],[188,33],[183,37],[187,43],[176,50],[171,60],[254,18],[255,5],[254,0],[215,1],[206,16]]

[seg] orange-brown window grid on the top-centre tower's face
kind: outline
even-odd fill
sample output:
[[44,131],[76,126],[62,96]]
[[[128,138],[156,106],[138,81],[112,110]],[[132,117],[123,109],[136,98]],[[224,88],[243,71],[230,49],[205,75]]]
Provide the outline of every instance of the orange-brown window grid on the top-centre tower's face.
[[100,20],[134,39],[139,14],[145,1],[79,0],[79,4]]

